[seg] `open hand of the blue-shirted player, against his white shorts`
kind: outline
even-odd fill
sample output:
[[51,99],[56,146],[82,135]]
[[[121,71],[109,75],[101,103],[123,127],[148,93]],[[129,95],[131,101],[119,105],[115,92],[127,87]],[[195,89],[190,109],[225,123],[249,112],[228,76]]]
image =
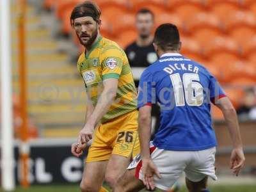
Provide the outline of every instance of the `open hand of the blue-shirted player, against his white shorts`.
[[154,175],[161,179],[161,175],[156,168],[156,164],[152,159],[142,159],[142,173],[143,173],[143,184],[148,190],[154,190],[156,188],[154,182]]

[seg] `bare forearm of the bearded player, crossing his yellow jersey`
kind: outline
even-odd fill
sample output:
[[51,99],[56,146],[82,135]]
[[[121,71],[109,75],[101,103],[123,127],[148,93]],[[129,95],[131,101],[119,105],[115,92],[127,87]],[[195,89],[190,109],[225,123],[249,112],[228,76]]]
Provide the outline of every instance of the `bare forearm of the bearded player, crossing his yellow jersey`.
[[92,115],[88,118],[87,124],[95,126],[104,116],[116,97],[115,91],[104,90],[95,106]]

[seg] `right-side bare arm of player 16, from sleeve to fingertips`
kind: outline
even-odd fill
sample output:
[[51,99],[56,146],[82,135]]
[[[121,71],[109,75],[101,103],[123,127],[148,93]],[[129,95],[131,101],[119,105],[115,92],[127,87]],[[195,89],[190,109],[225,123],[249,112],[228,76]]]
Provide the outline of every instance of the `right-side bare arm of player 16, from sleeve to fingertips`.
[[237,176],[241,168],[243,168],[244,166],[245,157],[243,152],[241,135],[239,131],[236,109],[234,109],[228,97],[223,97],[219,99],[216,106],[218,106],[218,108],[221,109],[227,122],[228,131],[234,147],[230,157],[230,168],[233,170],[233,173]]

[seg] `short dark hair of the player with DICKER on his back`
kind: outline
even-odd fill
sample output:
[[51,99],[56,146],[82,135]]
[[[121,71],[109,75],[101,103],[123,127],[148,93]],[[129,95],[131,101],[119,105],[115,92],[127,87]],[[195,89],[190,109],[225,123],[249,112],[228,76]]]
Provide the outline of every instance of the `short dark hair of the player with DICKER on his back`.
[[179,29],[170,23],[161,24],[156,29],[154,43],[163,51],[178,51],[180,45]]

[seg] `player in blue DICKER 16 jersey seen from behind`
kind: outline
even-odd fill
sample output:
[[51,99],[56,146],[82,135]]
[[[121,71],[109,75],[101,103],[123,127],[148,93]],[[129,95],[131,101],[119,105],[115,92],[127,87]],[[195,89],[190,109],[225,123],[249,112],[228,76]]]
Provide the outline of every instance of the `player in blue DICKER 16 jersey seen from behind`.
[[[216,180],[216,137],[211,102],[221,109],[234,149],[230,166],[238,175],[244,153],[236,110],[207,69],[179,54],[179,31],[173,24],[157,28],[154,47],[159,60],[142,74],[138,108],[141,154],[120,178],[115,192],[159,188],[167,191],[182,172],[189,192],[208,191],[207,178]],[[161,124],[150,142],[151,106],[161,106]]]

